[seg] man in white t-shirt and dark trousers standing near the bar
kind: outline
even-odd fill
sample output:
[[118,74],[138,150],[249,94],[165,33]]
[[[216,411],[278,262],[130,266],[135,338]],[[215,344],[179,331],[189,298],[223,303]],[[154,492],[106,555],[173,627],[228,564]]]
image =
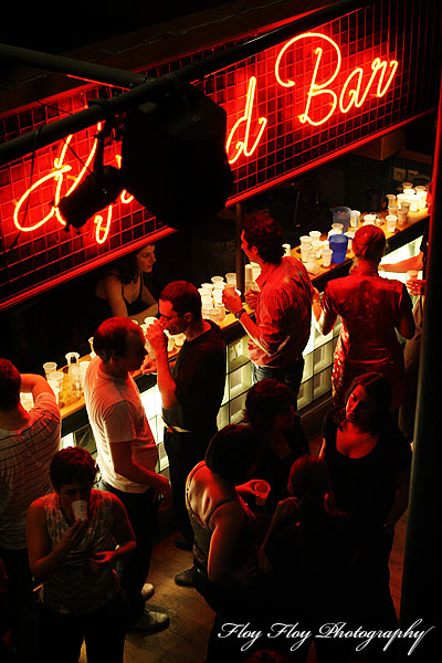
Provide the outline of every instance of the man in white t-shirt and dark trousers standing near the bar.
[[154,593],[146,583],[150,566],[151,536],[160,508],[171,502],[168,480],[155,472],[158,450],[138,388],[130,372],[145,357],[141,329],[128,318],[108,318],[94,334],[95,357],[86,372],[84,398],[97,448],[98,487],[120,498],[134,529],[136,551],[118,568],[130,603],[129,628],[154,633],[169,625],[162,612],[149,611],[145,601]]

